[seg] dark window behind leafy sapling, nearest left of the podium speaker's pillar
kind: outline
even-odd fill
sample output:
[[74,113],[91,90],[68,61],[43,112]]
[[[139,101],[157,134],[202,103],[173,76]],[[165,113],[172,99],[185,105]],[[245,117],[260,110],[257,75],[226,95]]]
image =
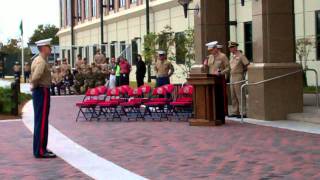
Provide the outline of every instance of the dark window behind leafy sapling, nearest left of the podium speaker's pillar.
[[184,64],[186,59],[186,48],[184,44],[186,43],[186,37],[183,32],[177,32],[175,34],[176,40],[176,63]]

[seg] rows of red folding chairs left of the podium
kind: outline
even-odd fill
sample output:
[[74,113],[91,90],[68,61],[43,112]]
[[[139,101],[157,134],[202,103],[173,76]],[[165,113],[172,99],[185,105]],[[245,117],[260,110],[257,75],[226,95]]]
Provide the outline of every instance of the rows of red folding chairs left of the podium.
[[171,120],[170,117],[180,120],[181,117],[188,117],[192,114],[191,85],[183,85],[178,90],[178,96],[173,99],[174,85],[168,84],[152,88],[143,85],[139,88],[131,88],[124,85],[112,89],[100,86],[88,89],[81,102],[76,103],[79,108],[76,121],[80,115],[85,120],[114,119],[121,120],[121,117],[128,119],[151,119],[160,118]]

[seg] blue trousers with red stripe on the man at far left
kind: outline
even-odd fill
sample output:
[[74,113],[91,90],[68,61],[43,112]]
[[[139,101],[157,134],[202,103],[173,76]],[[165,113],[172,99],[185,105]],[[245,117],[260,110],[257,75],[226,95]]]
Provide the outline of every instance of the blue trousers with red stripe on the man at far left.
[[38,87],[32,91],[34,109],[33,155],[39,157],[47,151],[50,90]]

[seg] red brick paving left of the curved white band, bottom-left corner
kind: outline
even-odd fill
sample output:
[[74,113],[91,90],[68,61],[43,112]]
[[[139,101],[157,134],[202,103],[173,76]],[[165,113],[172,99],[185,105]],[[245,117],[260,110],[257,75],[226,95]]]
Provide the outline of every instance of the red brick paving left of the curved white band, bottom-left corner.
[[60,158],[35,159],[23,122],[0,123],[0,179],[90,179]]

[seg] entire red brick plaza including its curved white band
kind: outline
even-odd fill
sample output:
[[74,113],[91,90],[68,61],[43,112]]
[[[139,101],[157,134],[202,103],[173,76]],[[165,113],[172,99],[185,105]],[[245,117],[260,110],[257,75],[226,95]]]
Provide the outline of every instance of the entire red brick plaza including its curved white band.
[[[75,122],[74,104],[79,100],[80,96],[52,98],[49,148],[57,159],[32,156],[32,134],[25,126],[32,119],[32,111],[27,112],[31,103],[22,121],[1,122],[0,178],[119,179],[123,173],[127,179],[320,178],[319,134],[235,121],[220,127],[167,121]],[[73,146],[64,146],[63,138],[56,140],[57,132]],[[67,157],[69,151],[75,157]],[[81,161],[84,157],[99,162]],[[80,160],[73,163],[76,159]],[[114,165],[100,167],[102,161]]]

